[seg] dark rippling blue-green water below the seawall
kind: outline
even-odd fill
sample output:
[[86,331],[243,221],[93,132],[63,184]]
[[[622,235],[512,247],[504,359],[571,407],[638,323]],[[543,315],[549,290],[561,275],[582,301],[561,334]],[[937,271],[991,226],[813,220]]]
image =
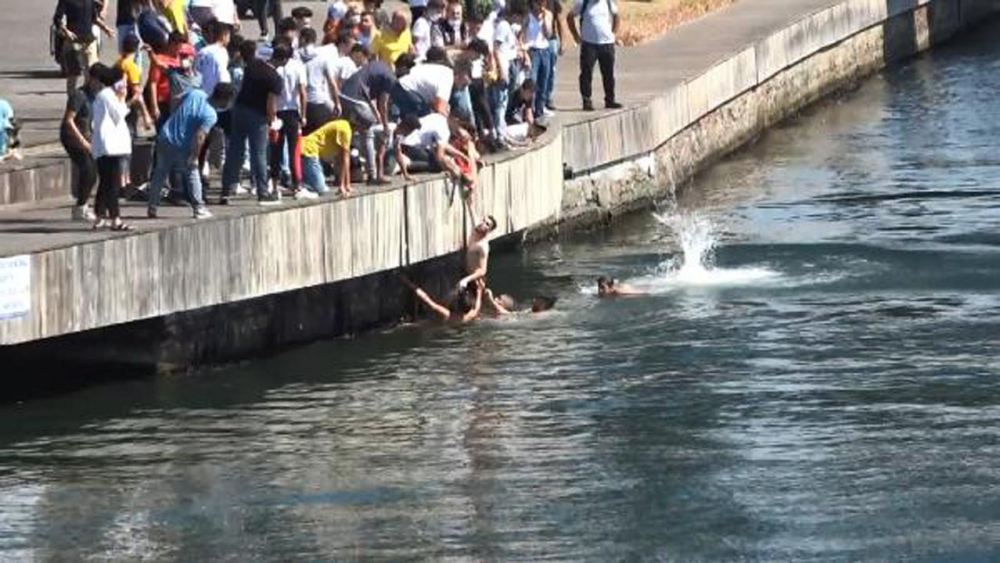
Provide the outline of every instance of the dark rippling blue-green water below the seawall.
[[995,560],[998,31],[497,257],[551,314],[3,407],[0,559]]

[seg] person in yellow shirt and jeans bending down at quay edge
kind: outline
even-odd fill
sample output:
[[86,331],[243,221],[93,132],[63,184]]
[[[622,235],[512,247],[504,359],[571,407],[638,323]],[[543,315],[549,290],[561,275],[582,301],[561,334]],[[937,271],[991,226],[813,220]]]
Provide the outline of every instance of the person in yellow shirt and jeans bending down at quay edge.
[[302,139],[303,188],[296,197],[314,198],[329,190],[323,163],[336,164],[340,174],[337,195],[351,195],[351,124],[345,119],[335,119]]

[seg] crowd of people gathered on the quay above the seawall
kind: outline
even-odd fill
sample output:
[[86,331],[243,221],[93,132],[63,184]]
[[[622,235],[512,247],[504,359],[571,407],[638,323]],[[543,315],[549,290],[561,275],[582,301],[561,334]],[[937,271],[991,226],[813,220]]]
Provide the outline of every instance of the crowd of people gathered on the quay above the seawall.
[[[472,187],[482,153],[544,131],[564,28],[581,43],[583,108],[593,109],[595,64],[605,105],[620,107],[614,0],[576,0],[568,17],[558,0],[506,1],[411,0],[389,11],[381,0],[329,0],[323,13],[300,6],[284,17],[280,0],[257,0],[251,39],[233,0],[118,0],[114,26],[103,0],[57,0],[73,217],[130,229],[118,206],[126,190],[146,199],[149,217],[164,196],[211,217],[213,168],[222,205],[247,191],[260,205],[319,197],[330,177],[340,196],[362,178],[419,171]],[[100,35],[117,44],[114,65],[98,61]],[[140,127],[155,131],[144,196],[129,172]]]

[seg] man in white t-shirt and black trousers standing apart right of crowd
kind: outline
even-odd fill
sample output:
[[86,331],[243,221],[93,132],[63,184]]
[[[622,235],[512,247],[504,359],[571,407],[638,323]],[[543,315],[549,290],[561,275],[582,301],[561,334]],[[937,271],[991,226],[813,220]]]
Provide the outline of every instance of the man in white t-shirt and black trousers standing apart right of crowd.
[[[576,18],[580,18],[577,30]],[[591,100],[594,63],[601,66],[604,81],[604,107],[618,109],[615,100],[615,34],[618,32],[618,3],[616,0],[575,0],[573,9],[566,16],[573,39],[580,44],[580,95],[583,109],[592,111]]]

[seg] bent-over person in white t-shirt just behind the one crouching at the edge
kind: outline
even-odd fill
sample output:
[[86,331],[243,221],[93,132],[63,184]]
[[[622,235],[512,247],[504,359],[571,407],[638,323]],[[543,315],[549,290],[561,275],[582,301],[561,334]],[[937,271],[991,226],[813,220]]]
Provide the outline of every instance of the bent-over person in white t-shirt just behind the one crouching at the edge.
[[455,71],[448,53],[441,47],[431,47],[427,62],[413,67],[399,79],[392,91],[392,103],[401,115],[424,116],[430,112],[447,115],[454,85]]

